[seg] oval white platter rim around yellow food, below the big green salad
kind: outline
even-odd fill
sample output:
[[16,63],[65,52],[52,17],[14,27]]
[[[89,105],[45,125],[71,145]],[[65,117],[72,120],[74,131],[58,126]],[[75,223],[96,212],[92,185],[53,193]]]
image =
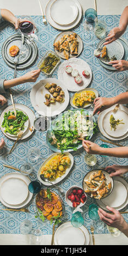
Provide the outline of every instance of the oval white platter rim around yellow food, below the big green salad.
[[[41,166],[40,166],[40,169],[39,169],[39,172],[38,172],[38,179],[39,179],[39,181],[40,181],[42,184],[44,184],[44,185],[46,185],[46,186],[51,186],[51,184],[48,183],[48,182],[46,182],[46,181],[41,180],[41,178],[40,178],[41,168],[42,168],[42,166],[45,166],[45,164],[46,164],[48,161],[50,161],[50,159],[52,159],[54,156],[56,156],[56,155],[58,155],[58,154],[61,154],[61,153],[53,153],[53,154],[50,155],[50,156],[44,161],[44,163],[42,163]],[[64,153],[64,154],[70,157],[71,163],[70,163],[69,167],[66,168],[66,172],[65,172],[64,175],[62,175],[61,177],[58,177],[56,180],[53,180],[53,181],[52,181],[53,184],[57,184],[58,182],[60,182],[60,181],[62,181],[63,179],[65,179],[65,177],[68,175],[68,173],[70,172],[70,170],[71,170],[71,168],[72,168],[72,166],[73,166],[73,164],[74,164],[74,157],[73,157],[70,153],[68,153],[68,152],[67,152],[67,153]]]

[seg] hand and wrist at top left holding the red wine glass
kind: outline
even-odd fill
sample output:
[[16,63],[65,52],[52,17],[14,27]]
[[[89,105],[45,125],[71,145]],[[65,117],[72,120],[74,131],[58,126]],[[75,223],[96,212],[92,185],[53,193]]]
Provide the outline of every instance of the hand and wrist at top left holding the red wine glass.
[[3,19],[5,21],[9,21],[10,23],[12,23],[15,28],[17,29],[17,17],[15,17],[15,15],[13,13],[11,13],[11,11],[7,10],[7,9],[1,9],[1,16],[3,17]]

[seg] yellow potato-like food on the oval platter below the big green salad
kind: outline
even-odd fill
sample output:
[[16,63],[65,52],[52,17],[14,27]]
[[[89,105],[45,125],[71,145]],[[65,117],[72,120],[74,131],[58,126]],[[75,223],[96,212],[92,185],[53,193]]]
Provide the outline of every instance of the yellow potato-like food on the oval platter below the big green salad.
[[70,166],[71,160],[70,157],[65,154],[57,154],[48,161],[45,166],[41,167],[41,174],[44,174],[45,178],[50,180],[55,180],[63,176],[66,172],[66,169]]

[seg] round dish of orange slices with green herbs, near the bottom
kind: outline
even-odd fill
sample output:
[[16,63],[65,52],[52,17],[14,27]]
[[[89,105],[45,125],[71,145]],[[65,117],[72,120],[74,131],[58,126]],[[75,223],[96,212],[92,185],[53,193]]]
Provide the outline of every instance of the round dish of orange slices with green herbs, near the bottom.
[[50,189],[42,189],[35,198],[38,208],[37,216],[44,222],[45,220],[58,224],[61,222],[63,215],[63,203],[58,194]]

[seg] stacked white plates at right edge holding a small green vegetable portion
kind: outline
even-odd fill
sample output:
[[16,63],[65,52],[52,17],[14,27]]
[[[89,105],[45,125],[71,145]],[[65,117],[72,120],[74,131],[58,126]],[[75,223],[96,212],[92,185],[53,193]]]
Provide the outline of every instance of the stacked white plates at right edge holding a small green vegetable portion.
[[[119,141],[128,136],[128,128],[127,128],[128,109],[123,105],[120,105],[116,113],[113,112],[113,109],[114,109],[114,106],[100,113],[98,118],[98,126],[103,136],[105,136],[108,139],[112,139],[112,141],[116,141],[116,140]],[[111,114],[113,115],[115,120],[118,120],[118,119],[122,120],[121,123],[123,123],[123,124],[118,124],[116,126],[117,129],[115,131],[114,129],[111,130],[111,125],[109,121]]]

